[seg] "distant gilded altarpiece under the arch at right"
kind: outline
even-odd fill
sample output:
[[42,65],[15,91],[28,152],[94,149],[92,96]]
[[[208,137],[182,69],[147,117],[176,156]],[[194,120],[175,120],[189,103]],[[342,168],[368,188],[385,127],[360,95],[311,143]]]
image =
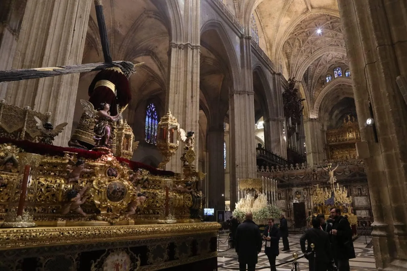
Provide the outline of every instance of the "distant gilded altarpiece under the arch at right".
[[326,155],[328,159],[356,159],[355,143],[358,141],[360,141],[358,122],[353,117],[351,119],[348,116],[339,129],[326,131]]

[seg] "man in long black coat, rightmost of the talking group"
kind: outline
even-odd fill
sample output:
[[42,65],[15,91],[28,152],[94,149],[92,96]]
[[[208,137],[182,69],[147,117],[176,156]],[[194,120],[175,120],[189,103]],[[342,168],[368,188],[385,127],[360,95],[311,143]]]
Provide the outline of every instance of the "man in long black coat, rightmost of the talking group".
[[341,209],[332,208],[331,217],[334,219],[332,230],[332,248],[338,271],[350,271],[349,259],[356,258],[352,241],[352,228],[347,218],[341,216]]

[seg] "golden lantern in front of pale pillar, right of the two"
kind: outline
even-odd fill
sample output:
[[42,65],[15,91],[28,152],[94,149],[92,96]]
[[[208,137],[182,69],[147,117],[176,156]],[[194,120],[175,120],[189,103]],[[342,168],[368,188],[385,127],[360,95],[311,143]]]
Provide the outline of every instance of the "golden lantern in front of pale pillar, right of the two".
[[158,123],[157,148],[160,150],[162,156],[164,156],[164,160],[158,165],[160,169],[164,169],[166,163],[170,161],[171,156],[173,156],[178,149],[178,130],[178,121],[168,110],[168,113],[166,113]]

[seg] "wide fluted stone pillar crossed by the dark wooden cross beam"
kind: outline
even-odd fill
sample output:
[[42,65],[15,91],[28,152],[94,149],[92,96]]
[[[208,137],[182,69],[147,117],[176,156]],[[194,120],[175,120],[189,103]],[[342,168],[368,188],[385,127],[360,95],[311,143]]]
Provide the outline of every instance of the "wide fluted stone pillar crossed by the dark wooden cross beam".
[[[12,69],[75,65],[82,62],[91,0],[28,0]],[[0,98],[16,106],[51,112],[55,125],[68,122],[55,139],[67,145],[78,89],[79,74],[12,82]]]

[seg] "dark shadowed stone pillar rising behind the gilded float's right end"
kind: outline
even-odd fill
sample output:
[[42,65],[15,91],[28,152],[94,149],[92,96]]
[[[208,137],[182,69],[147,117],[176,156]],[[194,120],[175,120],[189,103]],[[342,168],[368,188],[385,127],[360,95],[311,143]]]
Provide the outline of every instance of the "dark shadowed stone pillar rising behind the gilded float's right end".
[[[223,123],[208,129],[208,206],[225,210],[225,169],[223,166]],[[222,196],[223,194],[223,196]]]

